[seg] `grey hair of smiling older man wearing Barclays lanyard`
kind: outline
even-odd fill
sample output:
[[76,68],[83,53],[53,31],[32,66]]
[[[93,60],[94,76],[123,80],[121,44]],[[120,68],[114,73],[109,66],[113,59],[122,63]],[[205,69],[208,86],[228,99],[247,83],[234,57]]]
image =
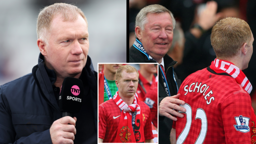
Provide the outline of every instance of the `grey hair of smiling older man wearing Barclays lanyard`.
[[[144,30],[144,26],[147,23],[147,14],[148,13],[169,13],[171,18],[172,18],[172,25],[173,29],[175,28],[175,19],[173,17],[173,14],[171,11],[166,9],[164,6],[159,5],[159,4],[152,4],[145,6],[143,9],[140,10],[140,12],[136,16],[136,24],[135,27],[139,26],[141,30]],[[135,34],[135,37],[137,38],[137,35]]]

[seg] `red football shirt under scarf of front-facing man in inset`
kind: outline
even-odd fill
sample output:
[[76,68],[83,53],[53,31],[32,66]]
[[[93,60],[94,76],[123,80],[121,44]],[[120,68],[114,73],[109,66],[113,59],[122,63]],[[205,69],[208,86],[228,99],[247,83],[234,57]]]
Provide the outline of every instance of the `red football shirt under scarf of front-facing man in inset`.
[[[142,101],[139,102],[139,105],[144,115],[142,116],[145,140],[154,139],[150,109]],[[121,111],[113,99],[99,105],[99,138],[103,139],[103,143],[115,142],[120,116]]]

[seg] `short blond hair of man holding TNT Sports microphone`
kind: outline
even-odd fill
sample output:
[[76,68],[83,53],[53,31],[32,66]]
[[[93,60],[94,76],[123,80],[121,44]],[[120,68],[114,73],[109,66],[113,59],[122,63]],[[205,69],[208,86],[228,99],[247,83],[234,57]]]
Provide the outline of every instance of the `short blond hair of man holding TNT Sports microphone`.
[[53,18],[57,15],[61,15],[63,21],[73,21],[78,18],[80,14],[88,27],[87,19],[81,9],[77,6],[67,3],[55,3],[53,5],[46,6],[42,9],[37,19],[37,38],[42,39],[48,44],[50,37],[50,28]]

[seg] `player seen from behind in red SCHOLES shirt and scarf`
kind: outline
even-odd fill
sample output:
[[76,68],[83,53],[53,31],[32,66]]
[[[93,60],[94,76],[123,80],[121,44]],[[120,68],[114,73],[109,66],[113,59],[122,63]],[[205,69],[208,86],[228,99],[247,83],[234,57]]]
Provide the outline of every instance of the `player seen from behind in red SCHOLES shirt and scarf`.
[[253,53],[253,34],[242,19],[227,17],[212,29],[216,59],[189,75],[179,90],[186,118],[177,117],[172,143],[255,143],[252,85],[242,72]]

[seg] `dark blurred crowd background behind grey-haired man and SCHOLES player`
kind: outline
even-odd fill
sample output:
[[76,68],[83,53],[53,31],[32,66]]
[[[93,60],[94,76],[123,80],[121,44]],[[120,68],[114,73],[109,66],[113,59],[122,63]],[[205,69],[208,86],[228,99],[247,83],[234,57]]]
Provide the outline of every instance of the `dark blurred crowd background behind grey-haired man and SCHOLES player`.
[[[256,35],[256,0],[129,0],[129,47],[134,43],[135,18],[146,5],[160,4],[169,9],[177,21],[172,46],[167,53],[178,63],[174,67],[183,82],[191,73],[210,66],[216,58],[211,46],[211,29],[216,21],[225,17],[245,20]],[[207,4],[211,3],[211,6]],[[209,19],[215,14],[216,21]],[[204,26],[198,29],[197,24]],[[253,44],[254,47],[255,43]],[[255,48],[254,48],[255,49]],[[252,103],[256,110],[256,52],[253,53],[248,68],[243,70],[253,86]]]

